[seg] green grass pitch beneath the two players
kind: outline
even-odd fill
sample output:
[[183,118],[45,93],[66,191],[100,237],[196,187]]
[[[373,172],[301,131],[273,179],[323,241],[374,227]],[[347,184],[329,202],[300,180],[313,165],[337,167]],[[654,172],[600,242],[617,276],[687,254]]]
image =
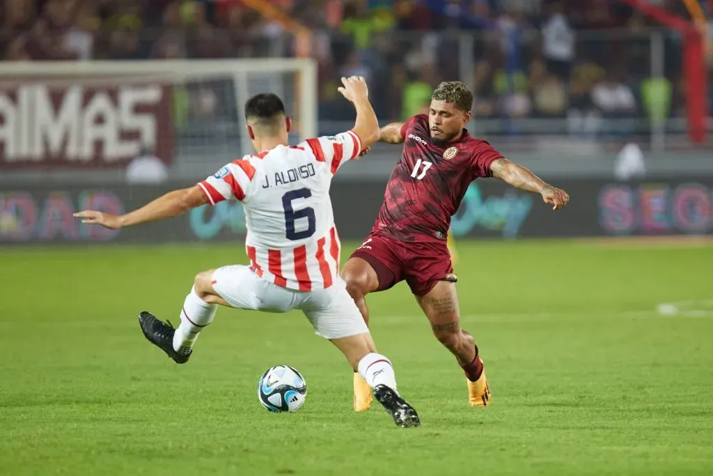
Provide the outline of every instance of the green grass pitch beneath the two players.
[[[345,244],[342,258],[354,249]],[[493,405],[401,284],[369,296],[379,350],[423,425],[352,411],[352,373],[298,313],[222,308],[187,365],[143,338],[242,244],[0,248],[0,474],[711,475],[713,248],[458,243],[463,327]],[[660,303],[679,303],[659,315]],[[300,370],[294,414],[257,402]]]

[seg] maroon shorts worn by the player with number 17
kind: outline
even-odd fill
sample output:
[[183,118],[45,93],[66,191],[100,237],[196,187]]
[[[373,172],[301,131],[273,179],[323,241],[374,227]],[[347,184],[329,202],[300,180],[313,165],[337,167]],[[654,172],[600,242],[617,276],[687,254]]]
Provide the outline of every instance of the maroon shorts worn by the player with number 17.
[[383,291],[406,280],[411,293],[426,295],[438,281],[458,280],[453,274],[451,253],[446,242],[405,243],[371,233],[350,258],[366,260],[379,277]]

